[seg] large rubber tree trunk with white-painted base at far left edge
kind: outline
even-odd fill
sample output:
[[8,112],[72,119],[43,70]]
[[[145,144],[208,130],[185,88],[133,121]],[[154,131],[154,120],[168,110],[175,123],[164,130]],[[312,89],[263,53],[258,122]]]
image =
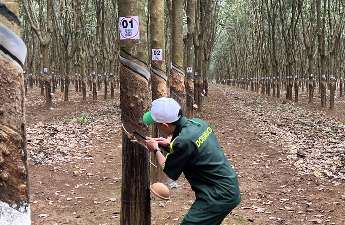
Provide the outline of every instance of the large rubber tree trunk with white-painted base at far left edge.
[[22,69],[26,47],[19,37],[18,0],[2,1],[0,11],[6,12],[0,15],[0,224],[29,225]]

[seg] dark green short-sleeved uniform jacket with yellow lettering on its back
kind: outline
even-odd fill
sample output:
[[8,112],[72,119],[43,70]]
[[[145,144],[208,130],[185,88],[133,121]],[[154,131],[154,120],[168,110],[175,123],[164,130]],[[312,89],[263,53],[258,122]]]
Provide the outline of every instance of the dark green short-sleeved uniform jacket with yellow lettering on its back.
[[173,180],[185,174],[196,197],[191,208],[227,211],[240,203],[237,174],[207,123],[182,117],[171,140],[163,171]]

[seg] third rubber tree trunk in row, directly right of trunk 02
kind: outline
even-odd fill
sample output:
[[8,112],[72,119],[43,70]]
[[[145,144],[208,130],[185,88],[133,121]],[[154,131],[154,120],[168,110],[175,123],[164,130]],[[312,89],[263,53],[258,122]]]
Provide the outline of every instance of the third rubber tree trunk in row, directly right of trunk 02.
[[172,46],[170,69],[170,97],[185,111],[185,73],[183,71],[183,0],[172,1]]

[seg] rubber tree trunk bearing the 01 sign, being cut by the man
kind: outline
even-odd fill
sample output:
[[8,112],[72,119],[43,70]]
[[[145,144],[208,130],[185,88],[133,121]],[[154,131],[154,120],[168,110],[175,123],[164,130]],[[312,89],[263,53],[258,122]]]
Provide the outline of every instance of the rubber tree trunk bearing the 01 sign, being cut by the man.
[[[150,154],[143,140],[133,141],[132,133],[149,136],[143,115],[150,110],[148,71],[148,36],[144,0],[119,0],[119,24],[123,40],[120,45],[120,101],[122,120],[121,225],[150,225]],[[134,18],[138,17],[138,19]],[[135,20],[136,19],[136,20]],[[130,34],[140,37],[129,39]],[[128,30],[132,29],[132,30]],[[121,28],[120,28],[121,30]],[[127,37],[127,38],[126,38]],[[135,51],[133,51],[135,49]]]

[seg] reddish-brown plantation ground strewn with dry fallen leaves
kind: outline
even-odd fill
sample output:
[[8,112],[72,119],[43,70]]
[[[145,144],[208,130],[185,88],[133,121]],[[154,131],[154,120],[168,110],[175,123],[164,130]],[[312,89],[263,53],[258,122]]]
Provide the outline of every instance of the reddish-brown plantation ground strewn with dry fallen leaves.
[[[28,91],[27,150],[32,224],[120,224],[119,90],[98,101],[71,92],[44,109]],[[238,174],[243,201],[222,224],[345,224],[345,101],[320,108],[237,87],[209,86],[195,117],[208,122]],[[195,196],[182,175],[170,200],[151,200],[152,224],[179,224]],[[210,224],[211,225],[211,224]]]

